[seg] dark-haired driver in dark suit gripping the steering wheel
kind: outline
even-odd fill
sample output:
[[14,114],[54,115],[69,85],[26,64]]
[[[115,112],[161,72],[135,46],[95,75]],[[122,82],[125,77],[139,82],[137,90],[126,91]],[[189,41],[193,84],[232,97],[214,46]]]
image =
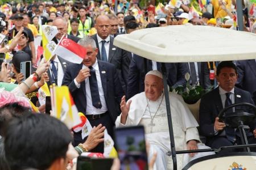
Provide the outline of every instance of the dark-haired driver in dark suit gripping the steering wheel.
[[[241,144],[239,130],[226,127],[217,117],[220,111],[234,103],[247,102],[253,104],[251,95],[247,91],[234,87],[237,82],[237,69],[232,62],[221,62],[217,67],[216,78],[219,87],[204,95],[201,99],[199,119],[200,133],[207,137],[207,145],[212,148],[221,146],[232,146]],[[235,109],[248,110],[247,107],[236,107]],[[232,112],[232,109],[230,109]],[[248,112],[248,111],[247,111]],[[246,131],[249,143],[256,143],[255,121],[250,125],[250,130]],[[255,148],[251,148],[255,150]]]

